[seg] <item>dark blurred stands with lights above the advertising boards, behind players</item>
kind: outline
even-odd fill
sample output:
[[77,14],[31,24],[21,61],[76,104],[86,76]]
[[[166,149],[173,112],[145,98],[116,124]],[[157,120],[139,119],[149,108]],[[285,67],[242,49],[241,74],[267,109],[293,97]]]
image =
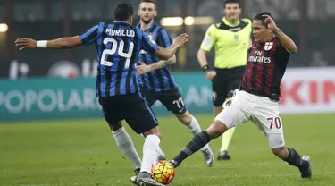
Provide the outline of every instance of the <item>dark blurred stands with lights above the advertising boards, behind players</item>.
[[[138,8],[137,0],[124,0]],[[19,52],[16,38],[51,39],[83,33],[99,21],[112,21],[118,0],[0,0],[0,78],[37,76],[90,77],[96,74],[92,47],[72,50]],[[241,0],[243,17],[272,13],[277,24],[298,47],[289,67],[335,66],[334,0]],[[178,53],[174,72],[201,71],[197,49],[208,26],[223,16],[222,0],[159,0],[155,21],[171,37],[187,32],[190,41]],[[133,26],[136,26],[136,16]],[[214,52],[209,62],[213,63]]]

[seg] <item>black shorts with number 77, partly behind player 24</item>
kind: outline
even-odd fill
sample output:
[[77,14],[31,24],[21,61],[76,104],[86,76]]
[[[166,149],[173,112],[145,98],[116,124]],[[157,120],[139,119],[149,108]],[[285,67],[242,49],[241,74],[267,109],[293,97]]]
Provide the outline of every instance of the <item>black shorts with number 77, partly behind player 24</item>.
[[147,97],[150,106],[158,100],[168,111],[173,114],[185,114],[187,111],[184,101],[182,100],[179,89],[165,90],[161,92],[142,89],[143,94]]

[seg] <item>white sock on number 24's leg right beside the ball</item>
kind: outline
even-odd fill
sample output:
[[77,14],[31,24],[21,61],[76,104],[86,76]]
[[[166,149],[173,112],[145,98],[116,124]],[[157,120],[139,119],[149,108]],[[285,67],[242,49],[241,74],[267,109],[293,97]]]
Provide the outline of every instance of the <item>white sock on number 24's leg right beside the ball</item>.
[[143,145],[143,159],[141,165],[141,173],[147,172],[150,173],[151,167],[154,165],[156,161],[156,157],[158,156],[158,148],[161,139],[156,135],[148,135],[144,145]]

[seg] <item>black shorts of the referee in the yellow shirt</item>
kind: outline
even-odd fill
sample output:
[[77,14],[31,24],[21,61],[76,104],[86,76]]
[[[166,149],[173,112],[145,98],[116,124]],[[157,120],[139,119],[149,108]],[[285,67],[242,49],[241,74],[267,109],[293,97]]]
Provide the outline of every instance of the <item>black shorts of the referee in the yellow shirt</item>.
[[215,69],[216,77],[212,80],[213,104],[222,106],[223,102],[232,97],[233,90],[239,89],[246,66],[232,69]]

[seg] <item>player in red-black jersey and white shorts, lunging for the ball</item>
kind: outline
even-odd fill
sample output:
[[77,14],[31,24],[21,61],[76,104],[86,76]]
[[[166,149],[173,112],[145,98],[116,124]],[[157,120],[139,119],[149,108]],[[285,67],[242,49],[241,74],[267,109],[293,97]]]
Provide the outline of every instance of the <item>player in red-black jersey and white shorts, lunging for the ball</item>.
[[311,159],[300,156],[294,148],[285,146],[278,101],[281,79],[289,63],[289,56],[297,53],[294,41],[281,31],[271,13],[259,13],[253,21],[255,40],[247,59],[243,79],[227,106],[214,123],[195,136],[180,154],[173,158],[175,166],[240,123],[252,121],[264,132],[272,153],[299,169],[302,178],[311,178]]

